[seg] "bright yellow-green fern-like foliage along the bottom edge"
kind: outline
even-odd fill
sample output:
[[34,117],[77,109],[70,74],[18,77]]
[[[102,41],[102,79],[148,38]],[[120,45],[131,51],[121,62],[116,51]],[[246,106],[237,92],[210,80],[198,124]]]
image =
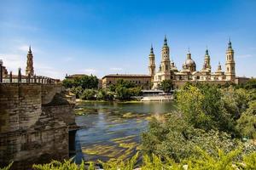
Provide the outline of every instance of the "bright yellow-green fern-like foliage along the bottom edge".
[[[133,170],[136,167],[140,167],[142,170],[152,169],[169,169],[169,170],[201,170],[201,169],[214,169],[214,170],[251,170],[256,169],[256,153],[244,155],[241,161],[236,161],[236,157],[241,150],[232,150],[225,154],[223,150],[218,150],[218,156],[211,156],[206,151],[196,148],[199,155],[191,156],[189,159],[185,159],[182,162],[176,162],[169,157],[164,156],[143,156],[143,163],[141,166],[137,166],[138,154],[133,156],[130,160],[122,161],[107,161],[102,162],[104,170]],[[72,160],[51,161],[44,165],[33,165],[35,170],[94,170],[96,166],[93,162],[84,162],[77,165]],[[4,170],[8,170],[5,168]]]

